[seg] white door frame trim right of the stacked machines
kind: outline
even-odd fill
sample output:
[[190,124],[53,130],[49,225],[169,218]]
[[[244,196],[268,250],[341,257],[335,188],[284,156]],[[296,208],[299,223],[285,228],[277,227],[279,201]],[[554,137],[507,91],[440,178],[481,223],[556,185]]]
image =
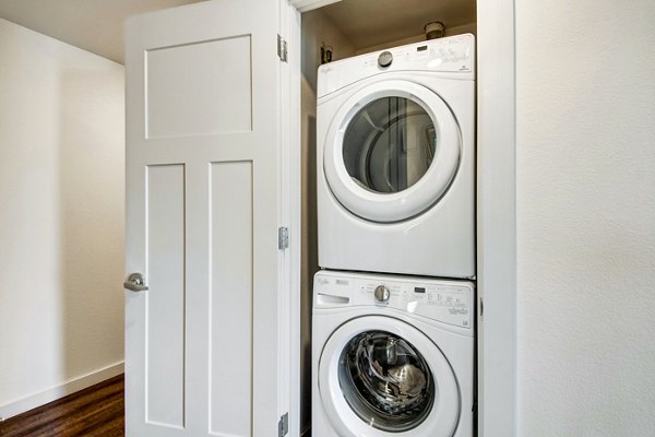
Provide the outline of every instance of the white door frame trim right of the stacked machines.
[[[290,1],[308,12],[340,0]],[[478,437],[515,436],[515,8],[476,3]]]

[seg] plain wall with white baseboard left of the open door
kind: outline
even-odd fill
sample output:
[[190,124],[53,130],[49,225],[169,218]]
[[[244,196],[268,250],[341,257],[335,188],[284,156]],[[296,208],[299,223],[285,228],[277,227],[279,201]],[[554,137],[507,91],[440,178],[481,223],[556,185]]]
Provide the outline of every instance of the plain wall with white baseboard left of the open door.
[[0,20],[0,416],[122,371],[123,83]]

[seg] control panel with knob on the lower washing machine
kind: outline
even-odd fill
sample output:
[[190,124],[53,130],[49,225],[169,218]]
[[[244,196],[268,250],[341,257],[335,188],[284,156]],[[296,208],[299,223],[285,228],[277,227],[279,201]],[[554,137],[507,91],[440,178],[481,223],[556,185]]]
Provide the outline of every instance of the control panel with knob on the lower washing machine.
[[374,306],[472,328],[475,287],[468,281],[417,280],[321,271],[314,276],[314,309]]

